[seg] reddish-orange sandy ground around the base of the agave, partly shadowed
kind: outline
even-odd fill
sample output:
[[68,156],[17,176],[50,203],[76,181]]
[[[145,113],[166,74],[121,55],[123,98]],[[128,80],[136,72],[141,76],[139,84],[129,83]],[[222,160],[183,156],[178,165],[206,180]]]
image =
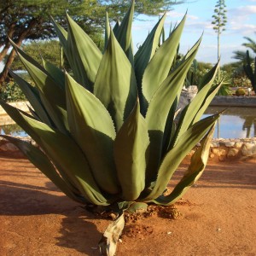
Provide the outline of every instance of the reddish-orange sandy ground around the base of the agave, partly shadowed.
[[[176,219],[126,224],[117,255],[256,255],[255,159],[210,161],[176,207]],[[69,200],[27,160],[0,157],[1,256],[98,255],[109,223]]]

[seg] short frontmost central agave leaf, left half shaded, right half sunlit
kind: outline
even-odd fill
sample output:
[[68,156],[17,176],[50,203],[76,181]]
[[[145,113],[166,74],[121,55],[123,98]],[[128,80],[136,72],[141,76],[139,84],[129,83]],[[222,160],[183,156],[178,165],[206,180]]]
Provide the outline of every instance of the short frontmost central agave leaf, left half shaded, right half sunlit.
[[122,198],[136,200],[145,188],[148,158],[148,125],[140,113],[139,103],[120,128],[114,142],[114,160],[117,167]]

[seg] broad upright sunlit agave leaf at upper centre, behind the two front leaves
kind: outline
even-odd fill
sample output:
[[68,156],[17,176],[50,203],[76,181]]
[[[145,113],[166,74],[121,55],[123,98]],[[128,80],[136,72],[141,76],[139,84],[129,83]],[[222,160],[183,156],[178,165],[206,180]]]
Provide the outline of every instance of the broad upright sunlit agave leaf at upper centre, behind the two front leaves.
[[94,95],[108,109],[119,131],[137,101],[137,83],[131,63],[113,32],[96,76]]

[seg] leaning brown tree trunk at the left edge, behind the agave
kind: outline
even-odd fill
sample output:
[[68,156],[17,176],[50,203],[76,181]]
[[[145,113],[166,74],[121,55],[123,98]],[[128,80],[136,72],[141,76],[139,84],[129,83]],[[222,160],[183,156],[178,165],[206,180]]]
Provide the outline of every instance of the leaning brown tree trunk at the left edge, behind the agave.
[[[20,47],[20,44],[23,42],[24,39],[29,35],[31,32],[33,26],[37,24],[38,20],[37,19],[32,19],[29,26],[26,27],[26,29],[23,30],[20,34],[20,38],[16,42],[16,45]],[[12,49],[12,51],[9,54],[8,60],[5,63],[5,66],[3,68],[3,72],[0,74],[0,90],[2,89],[3,82],[5,79],[7,79],[8,76],[8,70],[9,67],[12,65],[13,61],[15,59],[15,49]]]

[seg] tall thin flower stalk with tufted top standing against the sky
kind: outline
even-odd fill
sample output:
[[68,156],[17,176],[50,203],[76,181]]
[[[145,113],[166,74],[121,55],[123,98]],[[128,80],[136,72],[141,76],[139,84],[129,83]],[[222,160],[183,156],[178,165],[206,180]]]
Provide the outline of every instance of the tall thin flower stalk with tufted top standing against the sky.
[[[224,26],[227,23],[227,16],[226,16],[226,5],[224,0],[218,0],[215,9],[214,9],[214,15],[212,15],[213,21],[213,30],[217,32],[218,35],[218,60],[220,58],[220,34],[224,32],[225,28]],[[220,79],[220,73],[218,68],[218,79]]]

